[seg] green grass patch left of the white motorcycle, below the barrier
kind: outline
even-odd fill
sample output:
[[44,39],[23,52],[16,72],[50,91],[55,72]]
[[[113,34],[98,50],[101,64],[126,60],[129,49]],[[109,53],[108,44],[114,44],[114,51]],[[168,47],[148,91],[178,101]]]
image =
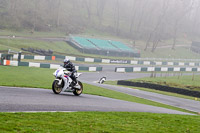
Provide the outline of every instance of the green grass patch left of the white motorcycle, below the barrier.
[[45,68],[0,66],[0,85],[51,88],[54,71]]

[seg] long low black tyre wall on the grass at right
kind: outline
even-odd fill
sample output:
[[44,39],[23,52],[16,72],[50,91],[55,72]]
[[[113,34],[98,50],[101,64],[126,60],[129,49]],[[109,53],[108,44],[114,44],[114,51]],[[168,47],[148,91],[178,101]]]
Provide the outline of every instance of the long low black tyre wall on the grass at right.
[[169,87],[169,86],[152,84],[152,83],[132,82],[132,81],[125,81],[125,80],[119,80],[117,81],[117,84],[126,85],[126,86],[134,86],[134,87],[143,87],[143,88],[148,88],[148,89],[172,92],[172,93],[200,98],[199,91],[192,91],[192,90],[187,90],[187,89],[182,89],[182,88]]

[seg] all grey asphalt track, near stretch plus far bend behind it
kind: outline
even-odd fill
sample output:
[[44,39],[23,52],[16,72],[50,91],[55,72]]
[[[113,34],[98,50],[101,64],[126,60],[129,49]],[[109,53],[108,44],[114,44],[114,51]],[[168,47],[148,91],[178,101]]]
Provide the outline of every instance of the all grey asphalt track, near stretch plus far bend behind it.
[[[96,83],[98,79],[100,79],[102,76],[106,76],[107,80],[118,80],[146,77],[149,76],[149,74],[84,72],[81,75],[80,80],[85,83],[101,86],[129,95],[142,97],[145,99],[177,106],[180,108],[185,108],[195,112],[200,112],[200,103],[197,101],[169,97],[165,95],[125,87],[116,87]],[[168,114],[189,114],[180,111],[94,95],[81,94],[81,96],[74,96],[72,93],[65,92],[56,95],[52,92],[52,90],[48,89],[0,87],[0,112],[30,111],[128,111]]]

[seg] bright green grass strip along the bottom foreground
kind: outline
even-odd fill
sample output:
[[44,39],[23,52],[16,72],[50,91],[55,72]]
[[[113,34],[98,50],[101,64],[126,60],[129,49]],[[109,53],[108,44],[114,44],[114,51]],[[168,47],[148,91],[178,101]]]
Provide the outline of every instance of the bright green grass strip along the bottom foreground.
[[0,113],[1,132],[199,133],[200,117],[134,112]]

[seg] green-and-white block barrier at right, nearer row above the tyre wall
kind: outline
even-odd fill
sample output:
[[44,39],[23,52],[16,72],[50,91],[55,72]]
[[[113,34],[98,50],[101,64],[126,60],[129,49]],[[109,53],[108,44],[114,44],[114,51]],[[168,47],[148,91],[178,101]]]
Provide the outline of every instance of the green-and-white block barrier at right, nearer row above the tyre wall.
[[200,72],[200,67],[116,67],[115,72]]

